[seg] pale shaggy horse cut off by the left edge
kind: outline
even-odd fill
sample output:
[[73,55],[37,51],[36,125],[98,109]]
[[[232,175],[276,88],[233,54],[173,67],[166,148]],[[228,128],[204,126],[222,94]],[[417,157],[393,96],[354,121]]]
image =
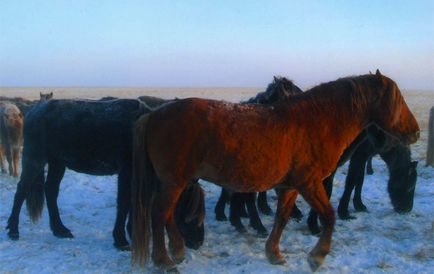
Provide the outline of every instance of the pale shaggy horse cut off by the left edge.
[[6,167],[3,154],[9,165],[9,175],[18,177],[20,151],[23,144],[23,114],[12,103],[0,102],[0,163],[3,173]]

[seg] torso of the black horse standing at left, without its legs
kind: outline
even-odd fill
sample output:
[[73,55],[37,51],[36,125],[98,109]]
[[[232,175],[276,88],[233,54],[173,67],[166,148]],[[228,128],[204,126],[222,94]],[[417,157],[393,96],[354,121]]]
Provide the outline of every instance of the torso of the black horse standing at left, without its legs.
[[24,154],[60,161],[78,172],[117,173],[130,161],[138,100],[50,100],[26,115]]

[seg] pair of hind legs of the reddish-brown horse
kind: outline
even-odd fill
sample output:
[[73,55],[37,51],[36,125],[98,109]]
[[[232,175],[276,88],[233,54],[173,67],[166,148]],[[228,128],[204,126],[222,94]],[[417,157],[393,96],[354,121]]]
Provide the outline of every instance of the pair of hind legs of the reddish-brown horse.
[[173,186],[162,184],[154,197],[152,205],[152,260],[154,265],[162,270],[175,271],[176,264],[168,256],[165,241],[164,227],[169,237],[169,248],[175,261],[182,261],[185,254],[184,240],[175,223],[174,211],[182,191],[189,180],[184,184]]

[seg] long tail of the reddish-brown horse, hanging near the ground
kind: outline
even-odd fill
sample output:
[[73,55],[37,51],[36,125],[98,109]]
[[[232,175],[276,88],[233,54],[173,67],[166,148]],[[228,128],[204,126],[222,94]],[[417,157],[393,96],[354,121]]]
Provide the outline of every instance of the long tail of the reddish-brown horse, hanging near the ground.
[[147,149],[147,124],[150,114],[142,115],[133,132],[132,174],[132,261],[144,266],[149,253],[151,236],[151,210],[156,190],[156,174]]

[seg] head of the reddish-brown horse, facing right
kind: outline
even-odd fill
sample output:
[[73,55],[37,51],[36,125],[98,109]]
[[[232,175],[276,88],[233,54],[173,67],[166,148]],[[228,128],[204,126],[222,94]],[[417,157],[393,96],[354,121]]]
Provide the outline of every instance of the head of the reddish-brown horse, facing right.
[[[390,78],[381,75],[367,75],[371,90],[376,92],[369,101],[371,119],[391,136],[404,144],[412,144],[419,138],[419,125],[408,108],[398,85]],[[369,106],[368,106],[369,107]]]

